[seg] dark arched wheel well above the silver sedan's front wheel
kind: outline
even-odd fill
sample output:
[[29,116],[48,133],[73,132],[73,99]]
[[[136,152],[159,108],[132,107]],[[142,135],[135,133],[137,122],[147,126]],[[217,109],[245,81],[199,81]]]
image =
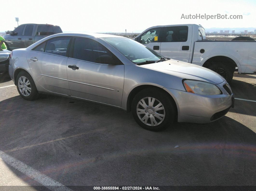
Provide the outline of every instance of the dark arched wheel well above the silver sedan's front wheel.
[[176,103],[175,103],[173,97],[172,97],[170,94],[168,94],[168,92],[166,92],[165,90],[163,90],[162,88],[157,87],[157,86],[153,86],[153,85],[141,85],[141,86],[137,86],[137,87],[135,87],[135,88],[130,92],[130,94],[129,94],[129,96],[128,96],[128,99],[127,99],[127,108],[126,108],[127,112],[130,112],[130,111],[131,111],[131,105],[132,105],[132,100],[133,100],[134,96],[135,96],[138,92],[140,92],[140,91],[142,91],[142,90],[144,90],[144,89],[146,89],[146,88],[157,89],[157,91],[166,94],[166,95],[173,101],[173,103],[175,104],[175,106],[176,106],[176,113],[177,113],[177,105],[176,105]]

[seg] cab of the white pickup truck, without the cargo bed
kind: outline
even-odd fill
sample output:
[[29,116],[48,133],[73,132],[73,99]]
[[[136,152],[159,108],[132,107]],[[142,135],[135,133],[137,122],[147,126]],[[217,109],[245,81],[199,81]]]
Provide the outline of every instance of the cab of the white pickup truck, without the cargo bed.
[[191,63],[190,55],[194,51],[192,42],[205,38],[205,29],[202,26],[181,24],[150,27],[134,40],[165,57]]

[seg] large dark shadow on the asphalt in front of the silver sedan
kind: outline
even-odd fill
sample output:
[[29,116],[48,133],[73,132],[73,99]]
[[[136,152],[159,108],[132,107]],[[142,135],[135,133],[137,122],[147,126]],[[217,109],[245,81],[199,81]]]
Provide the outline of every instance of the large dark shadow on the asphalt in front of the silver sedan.
[[64,97],[15,96],[0,110],[0,150],[63,185],[254,184],[256,134],[226,116],[151,132],[131,113]]

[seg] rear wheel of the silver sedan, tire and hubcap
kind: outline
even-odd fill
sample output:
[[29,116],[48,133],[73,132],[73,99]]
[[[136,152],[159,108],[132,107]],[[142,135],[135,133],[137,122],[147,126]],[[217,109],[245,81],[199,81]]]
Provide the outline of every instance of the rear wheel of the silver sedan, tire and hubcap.
[[34,80],[26,71],[18,73],[16,77],[16,86],[19,95],[26,100],[35,100],[39,97]]

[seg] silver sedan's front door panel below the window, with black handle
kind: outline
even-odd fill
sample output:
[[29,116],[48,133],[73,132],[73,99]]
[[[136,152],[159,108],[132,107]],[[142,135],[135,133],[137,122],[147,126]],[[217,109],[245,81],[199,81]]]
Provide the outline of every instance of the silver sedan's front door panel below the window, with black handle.
[[[68,65],[76,65],[79,69],[72,70]],[[121,106],[124,65],[105,65],[68,58],[67,74],[71,96]]]

